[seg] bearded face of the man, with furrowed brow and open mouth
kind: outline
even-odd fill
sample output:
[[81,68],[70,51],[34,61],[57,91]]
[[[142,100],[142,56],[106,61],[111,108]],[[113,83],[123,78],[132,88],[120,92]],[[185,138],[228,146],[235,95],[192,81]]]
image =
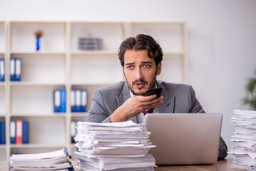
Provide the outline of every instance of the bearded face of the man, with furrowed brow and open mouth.
[[127,50],[124,54],[123,74],[133,95],[145,95],[145,90],[155,88],[156,76],[161,72],[162,63],[148,57],[148,51]]

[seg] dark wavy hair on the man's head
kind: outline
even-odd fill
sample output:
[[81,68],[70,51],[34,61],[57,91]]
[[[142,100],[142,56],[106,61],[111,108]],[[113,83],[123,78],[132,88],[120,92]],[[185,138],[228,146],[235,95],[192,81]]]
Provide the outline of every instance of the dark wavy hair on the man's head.
[[158,66],[163,60],[163,51],[158,42],[151,36],[145,34],[138,34],[136,37],[126,38],[118,48],[118,58],[121,65],[124,66],[124,54],[127,50],[147,50],[148,57],[155,59],[155,64]]

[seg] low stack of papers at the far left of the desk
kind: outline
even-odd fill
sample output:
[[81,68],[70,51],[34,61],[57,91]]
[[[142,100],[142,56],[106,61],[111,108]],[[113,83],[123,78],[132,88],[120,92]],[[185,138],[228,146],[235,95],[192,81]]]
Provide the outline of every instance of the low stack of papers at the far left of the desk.
[[11,170],[73,170],[66,148],[53,152],[12,155]]

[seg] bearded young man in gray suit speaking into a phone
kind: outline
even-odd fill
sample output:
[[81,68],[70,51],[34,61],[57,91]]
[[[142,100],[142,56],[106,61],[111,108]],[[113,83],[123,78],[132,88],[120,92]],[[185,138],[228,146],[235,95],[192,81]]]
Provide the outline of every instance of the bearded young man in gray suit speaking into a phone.
[[[152,113],[205,113],[191,86],[157,81],[163,51],[148,35],[127,38],[118,49],[126,81],[93,93],[88,122],[113,123],[133,120],[144,123],[145,110]],[[163,88],[161,96],[143,96],[149,88]],[[219,159],[227,156],[227,145],[220,138]]]

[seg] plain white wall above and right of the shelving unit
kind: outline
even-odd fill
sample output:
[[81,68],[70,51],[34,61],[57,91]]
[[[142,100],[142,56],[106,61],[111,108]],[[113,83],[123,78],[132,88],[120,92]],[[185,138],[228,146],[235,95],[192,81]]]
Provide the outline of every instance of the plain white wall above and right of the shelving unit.
[[[185,21],[189,83],[208,113],[222,113],[230,147],[233,109],[256,69],[254,0],[0,0],[0,21]],[[231,156],[230,156],[231,157]]]

